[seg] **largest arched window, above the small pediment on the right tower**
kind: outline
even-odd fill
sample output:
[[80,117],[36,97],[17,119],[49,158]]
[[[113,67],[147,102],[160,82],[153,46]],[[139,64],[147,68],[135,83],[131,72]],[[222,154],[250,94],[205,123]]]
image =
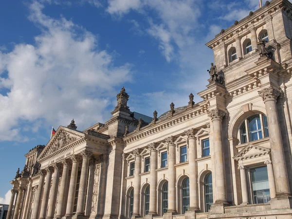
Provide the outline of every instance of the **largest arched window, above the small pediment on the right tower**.
[[[248,135],[247,135],[248,133]],[[240,127],[241,144],[269,137],[267,116],[262,114],[247,118]]]

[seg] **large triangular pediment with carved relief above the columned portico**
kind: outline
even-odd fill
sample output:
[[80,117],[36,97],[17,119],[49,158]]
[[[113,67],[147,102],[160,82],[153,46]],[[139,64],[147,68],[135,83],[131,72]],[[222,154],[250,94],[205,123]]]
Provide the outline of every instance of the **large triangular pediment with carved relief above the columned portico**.
[[55,153],[61,148],[72,144],[73,142],[77,141],[78,139],[84,136],[85,134],[82,132],[60,126],[57,129],[55,135],[50,139],[48,144],[45,146],[42,153],[39,155],[38,160]]

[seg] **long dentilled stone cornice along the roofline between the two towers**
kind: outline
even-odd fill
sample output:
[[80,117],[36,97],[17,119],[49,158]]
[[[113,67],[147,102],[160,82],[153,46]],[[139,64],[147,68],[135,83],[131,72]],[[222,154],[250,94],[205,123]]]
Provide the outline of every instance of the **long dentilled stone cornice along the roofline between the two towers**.
[[197,109],[187,108],[186,111],[179,113],[173,117],[167,117],[164,120],[156,121],[156,124],[149,124],[146,127],[141,128],[138,132],[131,132],[124,138],[125,143],[131,143],[141,138],[147,137],[154,133],[163,131],[166,128],[170,128],[184,121],[190,120],[198,115],[205,114],[207,112],[208,105],[205,103],[202,106],[197,106]]

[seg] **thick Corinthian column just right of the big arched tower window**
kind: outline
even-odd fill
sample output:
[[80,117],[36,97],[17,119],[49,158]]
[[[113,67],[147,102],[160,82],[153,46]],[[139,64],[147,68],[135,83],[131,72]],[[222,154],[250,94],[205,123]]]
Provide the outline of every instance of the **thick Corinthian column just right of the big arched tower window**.
[[259,96],[263,98],[267,111],[274,180],[276,185],[275,197],[291,196],[276,106],[276,100],[280,92],[271,86],[270,88],[258,91],[258,93]]

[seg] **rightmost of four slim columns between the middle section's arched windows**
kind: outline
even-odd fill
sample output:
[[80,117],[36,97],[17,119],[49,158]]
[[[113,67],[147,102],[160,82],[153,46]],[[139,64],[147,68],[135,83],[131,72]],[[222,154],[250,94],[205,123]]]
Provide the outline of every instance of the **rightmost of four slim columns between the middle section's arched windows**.
[[189,180],[190,180],[190,210],[198,211],[199,193],[198,193],[198,163],[197,159],[197,140],[195,137],[195,129],[184,131],[188,136],[188,161],[189,161]]

